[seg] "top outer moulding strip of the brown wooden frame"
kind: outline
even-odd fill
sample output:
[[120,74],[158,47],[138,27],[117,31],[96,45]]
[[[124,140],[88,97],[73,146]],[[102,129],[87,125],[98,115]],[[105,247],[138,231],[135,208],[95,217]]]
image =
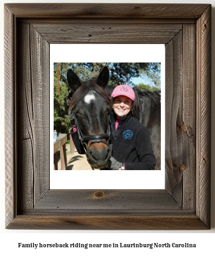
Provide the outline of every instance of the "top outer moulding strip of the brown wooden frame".
[[199,18],[208,4],[32,3],[6,4],[16,17],[30,18]]

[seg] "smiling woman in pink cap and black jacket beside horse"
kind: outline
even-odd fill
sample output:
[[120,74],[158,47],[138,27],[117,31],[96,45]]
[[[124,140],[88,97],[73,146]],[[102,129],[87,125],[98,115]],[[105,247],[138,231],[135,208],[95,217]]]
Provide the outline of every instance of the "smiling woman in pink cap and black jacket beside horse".
[[110,170],[155,170],[156,159],[148,130],[134,117],[134,90],[118,85],[113,90],[110,115],[112,157]]

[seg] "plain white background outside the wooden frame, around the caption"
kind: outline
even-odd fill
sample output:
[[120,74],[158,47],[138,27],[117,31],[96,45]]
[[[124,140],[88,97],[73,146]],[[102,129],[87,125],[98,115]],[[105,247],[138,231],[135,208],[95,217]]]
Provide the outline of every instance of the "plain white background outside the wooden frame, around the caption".
[[[2,123],[2,136],[1,136],[1,177],[0,177],[0,189],[1,189],[1,216],[0,216],[0,252],[2,255],[119,255],[119,253],[129,253],[133,255],[158,255],[160,253],[165,253],[166,255],[213,255],[214,254],[214,241],[215,241],[215,158],[214,158],[214,146],[215,146],[215,138],[214,138],[214,130],[215,130],[215,56],[214,56],[214,36],[215,36],[215,1],[214,0],[184,0],[180,1],[153,1],[148,0],[148,3],[211,3],[212,4],[212,158],[211,158],[211,170],[212,170],[212,191],[211,191],[211,230],[204,231],[156,231],[156,232],[147,232],[147,231],[139,231],[139,232],[126,232],[126,231],[113,231],[113,232],[81,232],[81,231],[57,231],[57,230],[7,230],[4,225],[4,88],[3,88],[3,4],[7,2],[60,2],[60,1],[1,1],[1,86],[0,86],[0,120]],[[81,2],[81,1],[64,1],[64,2]],[[84,1],[84,2],[102,2],[102,1]],[[103,2],[115,2],[115,1],[103,1]],[[118,2],[126,2],[126,3],[134,3],[134,1],[118,1]],[[144,3],[144,1],[135,1],[135,3]],[[31,248],[18,248],[18,242],[22,243],[64,243],[64,242],[81,242],[81,243],[151,243],[151,242],[177,242],[177,243],[196,243],[197,248],[186,249],[186,248],[159,248],[159,249],[104,249],[104,248],[94,248],[94,249],[31,249]],[[38,251],[39,250],[39,251]]]

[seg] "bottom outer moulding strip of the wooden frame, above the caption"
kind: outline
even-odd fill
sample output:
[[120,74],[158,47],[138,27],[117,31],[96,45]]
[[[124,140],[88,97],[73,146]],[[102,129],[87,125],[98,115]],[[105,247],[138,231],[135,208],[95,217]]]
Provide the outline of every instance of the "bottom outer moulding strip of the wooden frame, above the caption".
[[195,215],[20,215],[8,229],[41,230],[205,230],[209,229]]

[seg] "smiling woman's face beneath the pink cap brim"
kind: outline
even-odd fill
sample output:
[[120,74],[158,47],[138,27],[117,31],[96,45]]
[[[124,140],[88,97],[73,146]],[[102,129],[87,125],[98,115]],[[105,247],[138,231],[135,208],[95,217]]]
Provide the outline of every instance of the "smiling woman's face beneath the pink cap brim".
[[123,95],[119,95],[114,98],[113,109],[118,119],[121,119],[122,116],[127,115],[131,111],[132,107],[133,103],[132,99],[130,98]]

